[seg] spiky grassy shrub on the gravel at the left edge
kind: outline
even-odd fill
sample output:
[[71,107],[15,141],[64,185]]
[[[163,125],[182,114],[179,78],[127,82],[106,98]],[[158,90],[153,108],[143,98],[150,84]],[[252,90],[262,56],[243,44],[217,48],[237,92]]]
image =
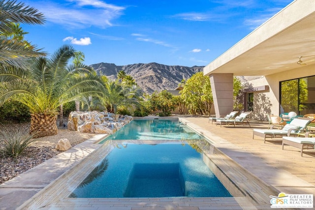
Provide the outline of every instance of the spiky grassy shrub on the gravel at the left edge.
[[10,131],[5,128],[0,129],[0,155],[17,158],[25,149],[31,146],[36,139],[32,138],[28,130],[19,128]]

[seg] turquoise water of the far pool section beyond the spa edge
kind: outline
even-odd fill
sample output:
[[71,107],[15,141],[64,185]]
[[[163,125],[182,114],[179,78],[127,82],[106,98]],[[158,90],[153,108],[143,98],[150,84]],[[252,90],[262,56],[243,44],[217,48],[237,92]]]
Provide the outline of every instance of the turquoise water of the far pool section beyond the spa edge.
[[105,138],[107,140],[192,140],[202,139],[177,119],[174,120],[132,120],[116,133]]

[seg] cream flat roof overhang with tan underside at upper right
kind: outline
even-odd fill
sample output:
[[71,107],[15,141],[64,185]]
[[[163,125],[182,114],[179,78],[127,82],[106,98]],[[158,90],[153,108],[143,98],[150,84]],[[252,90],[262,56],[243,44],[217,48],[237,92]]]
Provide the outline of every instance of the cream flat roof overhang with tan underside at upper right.
[[315,0],[295,0],[204,67],[204,75],[266,76],[315,64]]

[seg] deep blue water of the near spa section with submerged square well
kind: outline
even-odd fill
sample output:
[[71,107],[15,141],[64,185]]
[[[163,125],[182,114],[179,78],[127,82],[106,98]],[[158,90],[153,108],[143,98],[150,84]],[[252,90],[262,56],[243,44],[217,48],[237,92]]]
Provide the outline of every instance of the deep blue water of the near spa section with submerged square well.
[[231,197],[193,148],[178,141],[126,141],[111,150],[70,197]]

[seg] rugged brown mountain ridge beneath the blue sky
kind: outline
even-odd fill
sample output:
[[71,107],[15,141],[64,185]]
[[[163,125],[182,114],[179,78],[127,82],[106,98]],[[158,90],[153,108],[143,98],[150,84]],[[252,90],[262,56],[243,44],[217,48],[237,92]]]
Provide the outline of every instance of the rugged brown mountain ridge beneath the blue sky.
[[97,74],[102,73],[109,79],[115,80],[117,73],[124,70],[130,75],[139,87],[146,93],[152,94],[155,90],[174,90],[183,80],[203,70],[204,66],[163,65],[159,63],[137,63],[130,65],[115,65],[114,63],[96,63],[91,65]]

